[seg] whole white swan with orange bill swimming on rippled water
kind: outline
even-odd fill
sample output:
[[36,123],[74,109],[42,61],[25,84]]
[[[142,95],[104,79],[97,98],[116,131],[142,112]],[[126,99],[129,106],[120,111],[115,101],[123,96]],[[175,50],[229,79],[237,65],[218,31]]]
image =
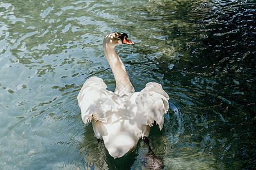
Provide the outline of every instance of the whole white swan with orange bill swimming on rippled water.
[[[169,109],[169,96],[158,83],[147,83],[141,92],[135,92],[120,57],[115,51],[118,44],[134,44],[126,33],[110,33],[103,48],[113,71],[115,91],[106,90],[101,78],[86,80],[77,96],[82,121],[92,121],[94,134],[104,141],[113,158],[120,158],[135,148],[140,138],[148,147],[150,127],[156,122],[163,128],[164,113]],[[151,150],[151,149],[150,149]]]

